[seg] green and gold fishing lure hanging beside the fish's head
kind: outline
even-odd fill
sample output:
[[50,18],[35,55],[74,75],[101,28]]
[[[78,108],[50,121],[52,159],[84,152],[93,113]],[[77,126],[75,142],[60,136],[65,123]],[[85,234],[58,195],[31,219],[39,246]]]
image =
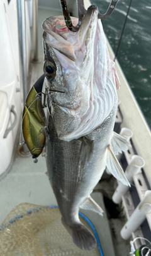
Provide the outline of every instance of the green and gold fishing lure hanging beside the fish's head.
[[45,146],[45,113],[42,106],[42,87],[45,74],[31,88],[23,109],[23,137],[32,157],[38,157]]

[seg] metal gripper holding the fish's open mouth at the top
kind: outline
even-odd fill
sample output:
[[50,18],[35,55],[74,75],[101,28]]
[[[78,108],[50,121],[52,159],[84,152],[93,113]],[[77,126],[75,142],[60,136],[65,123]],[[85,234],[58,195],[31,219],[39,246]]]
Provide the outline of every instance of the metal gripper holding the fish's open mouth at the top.
[[[106,13],[104,13],[104,15],[101,15],[101,13],[98,13],[98,18],[101,20],[108,18],[113,12],[113,10],[115,9],[115,6],[117,3],[118,3],[118,0],[111,0],[111,3],[109,4],[109,7]],[[77,11],[78,11],[79,21],[76,27],[74,27],[74,25],[72,24],[72,20],[70,18],[69,9],[67,7],[66,1],[60,0],[60,4],[62,7],[62,12],[65,18],[65,23],[67,25],[67,28],[69,28],[69,30],[71,30],[72,32],[77,32],[81,26],[81,21],[84,15],[86,14],[86,9],[84,8],[84,0],[77,0]]]

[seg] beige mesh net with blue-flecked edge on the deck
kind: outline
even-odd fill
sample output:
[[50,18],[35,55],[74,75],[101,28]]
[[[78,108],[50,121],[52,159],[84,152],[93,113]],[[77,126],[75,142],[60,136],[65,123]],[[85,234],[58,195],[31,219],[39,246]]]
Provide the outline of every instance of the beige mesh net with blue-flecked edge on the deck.
[[[91,229],[86,221],[83,219],[81,221]],[[98,256],[100,253],[98,247],[86,251],[74,245],[72,238],[62,225],[58,208],[25,203],[11,210],[1,224],[0,255]]]

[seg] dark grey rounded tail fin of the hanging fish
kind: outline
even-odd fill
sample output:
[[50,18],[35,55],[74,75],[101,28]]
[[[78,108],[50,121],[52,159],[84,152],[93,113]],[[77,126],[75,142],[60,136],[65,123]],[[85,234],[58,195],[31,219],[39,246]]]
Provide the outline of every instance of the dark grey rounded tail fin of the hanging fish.
[[81,248],[82,250],[91,250],[96,247],[96,238],[82,223],[75,225],[75,227],[70,227],[64,222],[63,224],[69,234],[72,236],[77,247]]

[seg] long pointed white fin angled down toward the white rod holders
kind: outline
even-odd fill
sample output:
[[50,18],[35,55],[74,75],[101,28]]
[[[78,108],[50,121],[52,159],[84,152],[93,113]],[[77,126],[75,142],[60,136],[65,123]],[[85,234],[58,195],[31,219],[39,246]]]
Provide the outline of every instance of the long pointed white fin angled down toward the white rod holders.
[[107,147],[107,157],[106,157],[106,166],[108,171],[115,176],[115,178],[121,181],[124,185],[130,186],[130,183],[126,179],[125,173],[121,168],[120,162],[116,158],[115,154],[111,150],[111,147]]

